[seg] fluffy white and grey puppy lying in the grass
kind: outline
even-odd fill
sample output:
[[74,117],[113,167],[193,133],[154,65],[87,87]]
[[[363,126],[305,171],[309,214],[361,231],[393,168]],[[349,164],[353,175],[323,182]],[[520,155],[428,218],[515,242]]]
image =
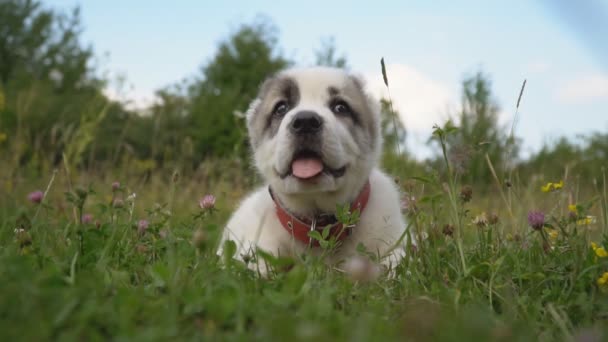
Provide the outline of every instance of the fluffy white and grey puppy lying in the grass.
[[337,205],[358,199],[369,181],[360,220],[348,227],[330,262],[355,255],[359,243],[385,263],[398,261],[403,248],[395,244],[405,223],[393,180],[377,168],[382,147],[378,107],[363,82],[340,69],[289,69],[268,79],[247,112],[255,165],[266,185],[240,204],[220,246],[235,241],[239,258],[256,248],[274,255],[319,253],[294,236],[291,222],[281,222],[277,207],[290,217],[316,222],[333,215]]

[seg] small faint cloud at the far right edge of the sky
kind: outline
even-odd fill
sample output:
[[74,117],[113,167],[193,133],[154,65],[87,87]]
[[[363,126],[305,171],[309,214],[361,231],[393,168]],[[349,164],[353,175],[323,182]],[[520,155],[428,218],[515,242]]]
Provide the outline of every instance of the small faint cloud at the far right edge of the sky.
[[557,98],[564,103],[580,103],[608,99],[607,75],[583,75],[557,88]]

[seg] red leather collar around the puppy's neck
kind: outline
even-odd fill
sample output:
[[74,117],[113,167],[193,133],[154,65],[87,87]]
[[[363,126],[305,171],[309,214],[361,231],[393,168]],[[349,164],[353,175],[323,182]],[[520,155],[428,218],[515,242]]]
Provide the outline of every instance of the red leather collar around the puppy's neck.
[[[333,214],[322,214],[314,219],[309,219],[305,217],[297,217],[287,211],[281,203],[275,198],[272,193],[270,187],[268,188],[270,192],[270,197],[274,201],[274,207],[276,209],[277,218],[281,222],[281,225],[287,232],[289,232],[296,240],[305,243],[307,245],[318,247],[319,241],[311,239],[308,236],[308,232],[317,230],[318,232],[323,231],[325,227],[331,225],[329,228],[329,236],[336,237],[338,241],[344,240],[351,234],[352,227],[346,227],[342,229],[342,223],[338,222],[336,216]],[[350,205],[351,212],[359,209],[359,212],[362,213],[363,209],[367,206],[367,201],[369,200],[369,194],[371,192],[371,186],[369,181],[365,183],[363,190],[359,193],[357,198]]]

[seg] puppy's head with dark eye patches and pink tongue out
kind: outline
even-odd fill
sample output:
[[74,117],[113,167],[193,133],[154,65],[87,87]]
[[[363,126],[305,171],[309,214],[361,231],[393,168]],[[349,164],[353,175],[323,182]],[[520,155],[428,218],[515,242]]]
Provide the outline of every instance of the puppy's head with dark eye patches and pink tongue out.
[[377,163],[379,121],[359,78],[321,67],[269,78],[247,112],[255,164],[274,192],[345,201]]

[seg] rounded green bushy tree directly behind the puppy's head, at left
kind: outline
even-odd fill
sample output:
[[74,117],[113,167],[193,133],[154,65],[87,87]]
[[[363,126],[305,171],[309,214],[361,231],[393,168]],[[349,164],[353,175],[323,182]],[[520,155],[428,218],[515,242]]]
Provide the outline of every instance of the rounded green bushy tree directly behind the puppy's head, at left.
[[190,135],[199,158],[243,156],[246,111],[264,79],[289,64],[277,49],[276,30],[244,25],[203,68],[189,91]]

